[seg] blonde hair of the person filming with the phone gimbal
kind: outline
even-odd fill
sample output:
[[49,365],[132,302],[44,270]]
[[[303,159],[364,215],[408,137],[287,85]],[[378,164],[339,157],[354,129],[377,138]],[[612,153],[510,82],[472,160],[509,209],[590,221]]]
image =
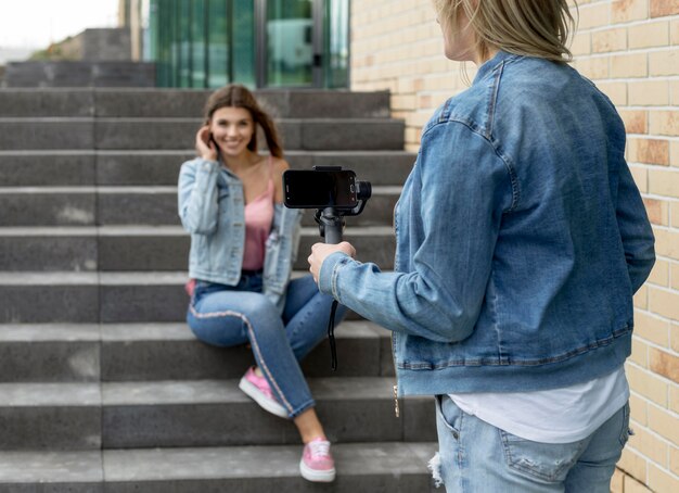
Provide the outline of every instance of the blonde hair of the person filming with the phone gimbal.
[[497,48],[559,63],[573,60],[567,45],[576,23],[567,0],[434,0],[434,7],[451,34],[464,9],[476,35],[476,51],[484,59],[490,48]]

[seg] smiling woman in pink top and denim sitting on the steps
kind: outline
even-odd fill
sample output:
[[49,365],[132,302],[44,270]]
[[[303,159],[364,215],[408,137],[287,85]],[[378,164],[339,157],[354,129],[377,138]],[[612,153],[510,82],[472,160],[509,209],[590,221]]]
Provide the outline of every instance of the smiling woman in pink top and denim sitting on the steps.
[[[261,128],[269,155],[257,153]],[[257,363],[240,388],[264,409],[290,418],[305,443],[310,481],[335,469],[299,361],[323,338],[332,298],[311,276],[290,280],[299,212],[282,205],[289,168],[271,117],[244,87],[214,92],[195,137],[197,157],[181,166],[179,216],[191,233],[187,321],[217,346],[249,343]],[[344,308],[337,309],[336,323]]]

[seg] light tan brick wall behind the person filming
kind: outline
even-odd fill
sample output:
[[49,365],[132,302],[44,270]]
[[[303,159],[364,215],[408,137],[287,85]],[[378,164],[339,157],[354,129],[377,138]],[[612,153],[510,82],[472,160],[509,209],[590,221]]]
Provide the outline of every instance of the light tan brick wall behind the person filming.
[[[679,0],[579,0],[574,65],[616,104],[627,159],[656,236],[657,264],[635,298],[627,376],[632,428],[612,489],[679,491]],[[449,62],[431,0],[351,2],[351,88],[389,89],[415,151],[434,109],[475,68]]]

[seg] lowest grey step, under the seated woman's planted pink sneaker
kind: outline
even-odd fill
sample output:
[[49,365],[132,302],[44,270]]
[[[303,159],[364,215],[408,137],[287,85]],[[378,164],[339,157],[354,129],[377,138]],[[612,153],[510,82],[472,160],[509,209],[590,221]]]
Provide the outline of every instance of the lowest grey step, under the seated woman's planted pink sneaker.
[[435,493],[432,442],[334,444],[337,477],[299,476],[300,445],[0,452],[0,490],[51,493]]

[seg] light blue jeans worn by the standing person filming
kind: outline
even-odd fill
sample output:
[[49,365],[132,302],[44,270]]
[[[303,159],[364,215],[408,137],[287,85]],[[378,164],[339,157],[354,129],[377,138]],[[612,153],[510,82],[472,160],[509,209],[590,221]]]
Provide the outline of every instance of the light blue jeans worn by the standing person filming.
[[573,443],[538,443],[507,433],[436,396],[440,477],[447,492],[608,493],[629,438],[629,404]]

